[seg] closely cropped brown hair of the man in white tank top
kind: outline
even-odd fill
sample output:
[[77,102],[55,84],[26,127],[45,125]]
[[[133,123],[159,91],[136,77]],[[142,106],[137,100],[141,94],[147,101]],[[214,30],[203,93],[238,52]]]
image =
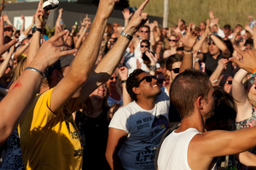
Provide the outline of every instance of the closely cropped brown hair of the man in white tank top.
[[206,98],[210,91],[209,77],[202,71],[187,69],[177,75],[170,89],[170,100],[181,118],[190,116],[198,97]]

